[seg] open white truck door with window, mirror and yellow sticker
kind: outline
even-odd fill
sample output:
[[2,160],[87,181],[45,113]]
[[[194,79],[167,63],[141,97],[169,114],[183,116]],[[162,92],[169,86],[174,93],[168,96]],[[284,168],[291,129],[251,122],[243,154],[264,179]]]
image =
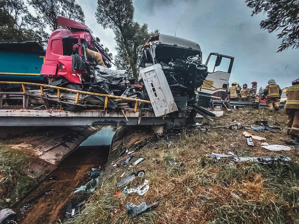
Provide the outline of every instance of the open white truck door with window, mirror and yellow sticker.
[[224,54],[211,53],[206,59],[208,76],[197,90],[205,95],[212,95],[217,91],[226,91],[233,67],[234,57]]

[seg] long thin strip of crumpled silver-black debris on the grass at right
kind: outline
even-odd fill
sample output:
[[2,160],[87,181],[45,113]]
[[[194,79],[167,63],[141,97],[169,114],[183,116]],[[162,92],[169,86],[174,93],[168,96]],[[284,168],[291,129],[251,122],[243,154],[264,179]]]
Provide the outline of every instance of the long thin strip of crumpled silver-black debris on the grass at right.
[[242,161],[250,161],[250,162],[257,162],[260,164],[274,164],[280,162],[281,164],[284,164],[286,162],[291,161],[290,157],[285,156],[261,156],[261,157],[233,157],[230,155],[225,154],[218,154],[218,153],[212,153],[211,155],[208,155],[210,158],[216,158],[217,160],[221,158],[228,158],[235,162],[242,162]]

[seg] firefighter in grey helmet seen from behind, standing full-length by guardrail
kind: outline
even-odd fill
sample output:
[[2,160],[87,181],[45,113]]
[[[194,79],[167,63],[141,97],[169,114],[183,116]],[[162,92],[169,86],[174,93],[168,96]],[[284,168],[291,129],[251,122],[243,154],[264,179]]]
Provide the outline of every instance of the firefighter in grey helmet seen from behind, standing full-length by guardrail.
[[268,86],[264,89],[263,96],[267,96],[267,107],[268,110],[273,110],[273,107],[276,111],[279,110],[279,106],[277,104],[277,99],[281,94],[281,88],[276,84],[274,79],[269,79]]

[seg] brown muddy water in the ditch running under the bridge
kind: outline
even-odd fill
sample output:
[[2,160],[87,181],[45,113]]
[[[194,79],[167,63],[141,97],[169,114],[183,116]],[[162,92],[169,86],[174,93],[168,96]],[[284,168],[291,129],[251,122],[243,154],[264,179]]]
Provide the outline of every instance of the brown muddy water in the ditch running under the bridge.
[[[62,221],[74,189],[91,180],[86,172],[107,162],[113,133],[112,127],[106,126],[83,142],[50,175],[56,180],[46,178],[18,205],[15,209],[17,223],[49,224],[59,219]],[[21,211],[24,206],[28,209]]]

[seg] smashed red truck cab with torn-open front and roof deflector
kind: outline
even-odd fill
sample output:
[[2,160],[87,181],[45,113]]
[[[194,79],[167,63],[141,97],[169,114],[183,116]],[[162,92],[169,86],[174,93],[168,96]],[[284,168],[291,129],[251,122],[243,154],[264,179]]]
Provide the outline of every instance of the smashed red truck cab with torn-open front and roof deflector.
[[89,49],[99,52],[107,68],[111,68],[112,54],[108,54],[109,50],[102,47],[86,26],[63,16],[58,16],[57,23],[68,28],[55,30],[48,40],[41,75],[48,77],[49,82],[66,78],[72,83],[82,83],[82,71],[72,70],[72,54],[73,45],[82,44],[84,41]]

